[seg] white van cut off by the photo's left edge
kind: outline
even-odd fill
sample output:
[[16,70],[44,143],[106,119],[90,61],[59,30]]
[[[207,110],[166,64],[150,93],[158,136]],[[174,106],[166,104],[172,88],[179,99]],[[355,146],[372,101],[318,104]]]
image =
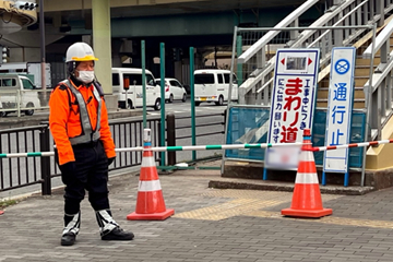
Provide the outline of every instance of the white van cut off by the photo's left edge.
[[21,111],[26,116],[33,116],[34,108],[40,107],[38,91],[27,75],[0,74],[0,116],[17,110],[17,102]]

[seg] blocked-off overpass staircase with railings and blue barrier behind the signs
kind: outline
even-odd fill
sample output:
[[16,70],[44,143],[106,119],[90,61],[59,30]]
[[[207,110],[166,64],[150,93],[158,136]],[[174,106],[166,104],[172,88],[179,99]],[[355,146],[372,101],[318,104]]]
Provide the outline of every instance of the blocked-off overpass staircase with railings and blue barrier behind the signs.
[[[274,28],[235,29],[233,71],[240,82],[239,104],[228,106],[227,143],[266,141],[277,48],[320,48],[317,110],[312,126],[314,146],[324,143],[333,47],[356,48],[350,142],[393,138],[393,1],[333,1],[327,11],[310,26],[299,26],[299,17],[317,3],[317,0],[305,1]],[[376,188],[393,186],[390,174],[393,168],[392,155],[391,145],[370,146],[366,151],[352,148],[350,184]],[[261,158],[264,159],[261,151],[226,151],[223,162],[247,159],[249,163],[260,163]],[[322,165],[322,154],[315,153],[317,165]],[[224,176],[237,172],[236,165],[227,166],[223,169]],[[261,171],[259,176],[262,176]],[[341,178],[332,176],[330,182],[337,180]]]

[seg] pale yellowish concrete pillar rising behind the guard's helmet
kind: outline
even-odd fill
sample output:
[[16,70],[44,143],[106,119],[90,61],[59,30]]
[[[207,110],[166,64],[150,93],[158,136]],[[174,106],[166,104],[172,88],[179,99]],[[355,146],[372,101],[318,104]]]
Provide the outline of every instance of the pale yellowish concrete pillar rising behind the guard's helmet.
[[110,3],[109,0],[92,0],[93,49],[99,59],[95,74],[105,94],[111,94],[111,46],[110,46]]

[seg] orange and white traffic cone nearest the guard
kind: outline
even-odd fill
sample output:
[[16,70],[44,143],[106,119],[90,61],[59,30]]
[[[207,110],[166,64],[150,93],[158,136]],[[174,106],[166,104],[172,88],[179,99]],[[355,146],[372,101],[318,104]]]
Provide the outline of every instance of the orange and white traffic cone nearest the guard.
[[166,210],[158,172],[153,157],[151,130],[144,130],[144,150],[138,188],[135,212],[129,214],[129,221],[164,221],[175,214],[174,210]]

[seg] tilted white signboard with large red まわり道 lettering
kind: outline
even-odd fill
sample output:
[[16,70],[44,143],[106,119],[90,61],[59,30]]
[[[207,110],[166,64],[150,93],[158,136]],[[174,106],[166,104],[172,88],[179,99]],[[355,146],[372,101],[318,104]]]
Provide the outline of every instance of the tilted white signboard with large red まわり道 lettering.
[[[311,129],[320,50],[278,49],[270,110],[267,143],[302,141],[302,131]],[[266,148],[265,167],[296,169],[300,146]]]

